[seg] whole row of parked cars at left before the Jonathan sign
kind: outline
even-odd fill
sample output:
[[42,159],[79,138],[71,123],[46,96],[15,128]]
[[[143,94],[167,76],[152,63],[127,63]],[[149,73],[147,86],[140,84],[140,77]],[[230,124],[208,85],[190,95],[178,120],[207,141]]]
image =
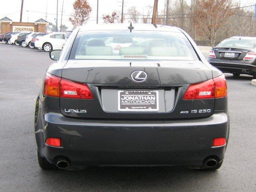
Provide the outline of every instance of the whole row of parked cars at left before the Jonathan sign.
[[49,52],[54,49],[62,49],[66,33],[40,33],[40,32],[8,32],[0,35],[3,44],[16,45],[29,48],[38,48]]

